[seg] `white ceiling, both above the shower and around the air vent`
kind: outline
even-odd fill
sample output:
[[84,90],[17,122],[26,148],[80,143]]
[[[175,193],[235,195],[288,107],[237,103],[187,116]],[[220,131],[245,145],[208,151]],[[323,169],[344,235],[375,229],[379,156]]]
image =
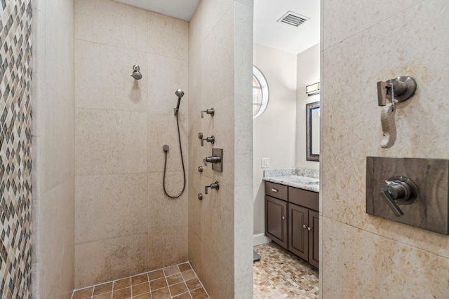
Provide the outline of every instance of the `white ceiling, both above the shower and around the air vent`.
[[[115,0],[173,18],[189,21],[200,0]],[[300,27],[277,22],[293,11],[310,20]],[[300,53],[320,42],[319,0],[254,0],[254,42]]]

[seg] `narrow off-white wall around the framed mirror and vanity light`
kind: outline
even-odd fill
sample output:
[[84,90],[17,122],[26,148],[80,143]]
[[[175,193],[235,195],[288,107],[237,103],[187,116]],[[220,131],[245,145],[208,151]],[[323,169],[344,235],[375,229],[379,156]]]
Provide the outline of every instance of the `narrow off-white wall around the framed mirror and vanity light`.
[[297,90],[296,90],[296,167],[319,169],[320,163],[307,161],[306,152],[306,104],[318,102],[320,95],[306,94],[306,86],[320,81],[320,44],[316,44],[297,55]]

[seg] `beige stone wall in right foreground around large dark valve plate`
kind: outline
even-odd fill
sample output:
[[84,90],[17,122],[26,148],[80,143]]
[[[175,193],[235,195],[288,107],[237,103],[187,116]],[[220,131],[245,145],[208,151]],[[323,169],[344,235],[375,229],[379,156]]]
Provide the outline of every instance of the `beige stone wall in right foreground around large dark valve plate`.
[[[447,298],[449,237],[366,214],[365,193],[366,156],[448,158],[449,3],[353,4],[321,1],[321,297]],[[417,92],[382,149],[376,82],[396,76]]]

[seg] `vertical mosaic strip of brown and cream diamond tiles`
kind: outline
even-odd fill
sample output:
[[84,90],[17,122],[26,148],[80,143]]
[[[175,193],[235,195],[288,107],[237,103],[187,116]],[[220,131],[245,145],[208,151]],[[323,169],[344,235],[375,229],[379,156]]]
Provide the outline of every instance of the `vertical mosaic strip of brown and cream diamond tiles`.
[[0,294],[31,286],[31,0],[0,1]]

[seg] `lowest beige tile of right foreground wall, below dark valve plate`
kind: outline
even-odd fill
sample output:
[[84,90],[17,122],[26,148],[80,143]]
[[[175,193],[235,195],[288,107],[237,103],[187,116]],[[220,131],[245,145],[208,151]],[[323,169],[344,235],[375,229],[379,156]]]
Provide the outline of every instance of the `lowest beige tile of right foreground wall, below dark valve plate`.
[[326,217],[320,221],[323,234],[332,236],[323,242],[325,258],[320,261],[323,296],[445,298],[448,294],[448,258]]

